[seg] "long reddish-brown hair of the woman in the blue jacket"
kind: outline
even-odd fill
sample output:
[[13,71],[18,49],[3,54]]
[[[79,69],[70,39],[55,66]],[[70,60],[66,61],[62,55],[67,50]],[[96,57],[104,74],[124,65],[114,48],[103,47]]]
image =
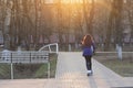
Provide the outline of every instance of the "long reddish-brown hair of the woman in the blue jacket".
[[93,42],[92,36],[90,34],[86,34],[82,40],[82,45],[91,47],[92,42]]

